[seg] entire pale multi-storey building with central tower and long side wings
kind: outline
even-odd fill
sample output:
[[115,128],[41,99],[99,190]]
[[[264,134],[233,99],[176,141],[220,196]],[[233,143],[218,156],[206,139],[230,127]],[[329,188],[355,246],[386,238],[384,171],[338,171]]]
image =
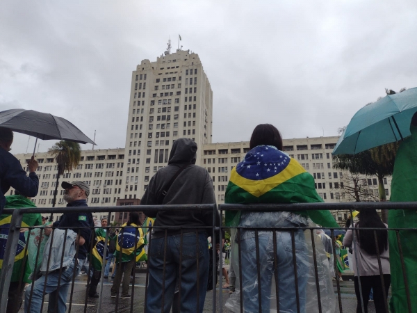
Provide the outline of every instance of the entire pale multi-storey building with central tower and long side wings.
[[[179,49],[170,54],[169,50],[154,62],[143,60],[132,72],[125,148],[84,150],[79,166],[60,178],[60,182],[88,183],[90,206],[136,203],[122,200],[142,197],[155,172],[167,165],[172,143],[181,137],[192,138],[197,143],[197,165],[208,170],[216,201],[224,203],[231,169],[249,151],[249,141],[211,143],[213,91],[202,62],[193,52]],[[332,150],[337,141],[338,137],[284,139],[284,151],[313,175],[325,202],[354,200],[347,188],[343,188],[352,184],[349,173],[333,169]],[[27,170],[31,154],[15,154],[15,157]],[[33,202],[38,207],[51,207],[57,166],[47,152],[36,154],[36,159],[40,188]],[[376,177],[361,177],[359,185],[370,200],[377,198]],[[391,177],[384,180],[384,186],[389,196]],[[59,186],[56,206],[65,206]],[[345,219],[345,214],[338,213],[336,219]],[[106,214],[97,214],[98,218],[102,216]],[[113,214],[111,222],[114,220]]]

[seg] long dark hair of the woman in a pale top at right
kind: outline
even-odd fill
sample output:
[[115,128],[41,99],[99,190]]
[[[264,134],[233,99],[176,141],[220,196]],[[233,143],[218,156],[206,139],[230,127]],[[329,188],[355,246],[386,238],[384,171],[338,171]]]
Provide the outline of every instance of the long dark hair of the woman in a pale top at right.
[[[377,214],[376,209],[363,209],[359,214],[359,223],[357,227],[372,227],[372,228],[386,228],[385,224],[382,223],[381,218]],[[359,245],[361,249],[367,252],[369,255],[377,254],[377,245],[375,244],[374,230],[359,230]],[[384,252],[388,248],[388,231],[377,230],[377,240],[379,253]]]

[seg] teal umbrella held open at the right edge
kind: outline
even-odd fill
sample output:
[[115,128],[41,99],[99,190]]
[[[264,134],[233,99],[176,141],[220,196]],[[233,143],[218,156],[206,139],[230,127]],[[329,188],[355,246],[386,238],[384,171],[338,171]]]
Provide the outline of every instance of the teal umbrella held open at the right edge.
[[357,154],[411,136],[411,118],[416,112],[417,88],[363,106],[343,131],[333,154]]

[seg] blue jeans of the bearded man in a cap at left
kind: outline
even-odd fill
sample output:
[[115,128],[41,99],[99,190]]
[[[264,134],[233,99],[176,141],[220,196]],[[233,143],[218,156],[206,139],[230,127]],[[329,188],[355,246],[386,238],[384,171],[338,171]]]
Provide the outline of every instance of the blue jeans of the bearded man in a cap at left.
[[[79,262],[75,268],[75,275],[78,275],[81,271],[81,267],[85,259],[79,259]],[[58,289],[58,278],[59,270],[54,271],[48,274],[47,278],[47,288],[45,293],[49,294],[49,305],[48,313],[65,313],[67,310],[67,295],[68,289],[72,282],[72,277],[74,275],[74,261],[70,266],[67,267],[65,271],[62,272],[60,277],[60,287]],[[31,300],[31,306],[29,307],[29,298],[31,295],[31,285],[26,288],[25,300],[24,300],[24,312],[25,313],[39,313],[40,307],[42,305],[42,294],[45,285],[45,275],[42,275],[41,278],[33,282],[33,294]],[[58,311],[55,310],[56,301],[58,300]]]

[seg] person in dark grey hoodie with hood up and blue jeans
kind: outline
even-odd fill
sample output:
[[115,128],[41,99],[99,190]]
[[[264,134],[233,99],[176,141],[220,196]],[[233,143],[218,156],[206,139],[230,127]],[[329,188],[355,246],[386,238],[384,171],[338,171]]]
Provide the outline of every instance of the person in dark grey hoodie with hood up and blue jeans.
[[[168,165],[152,177],[140,204],[215,204],[213,181],[206,169],[195,165],[196,152],[197,144],[191,139],[175,141]],[[207,227],[213,226],[213,214],[219,225],[217,209],[143,213],[156,218],[148,253],[147,312],[170,312],[177,280],[180,312],[203,312],[209,263],[207,236],[211,235]]]

